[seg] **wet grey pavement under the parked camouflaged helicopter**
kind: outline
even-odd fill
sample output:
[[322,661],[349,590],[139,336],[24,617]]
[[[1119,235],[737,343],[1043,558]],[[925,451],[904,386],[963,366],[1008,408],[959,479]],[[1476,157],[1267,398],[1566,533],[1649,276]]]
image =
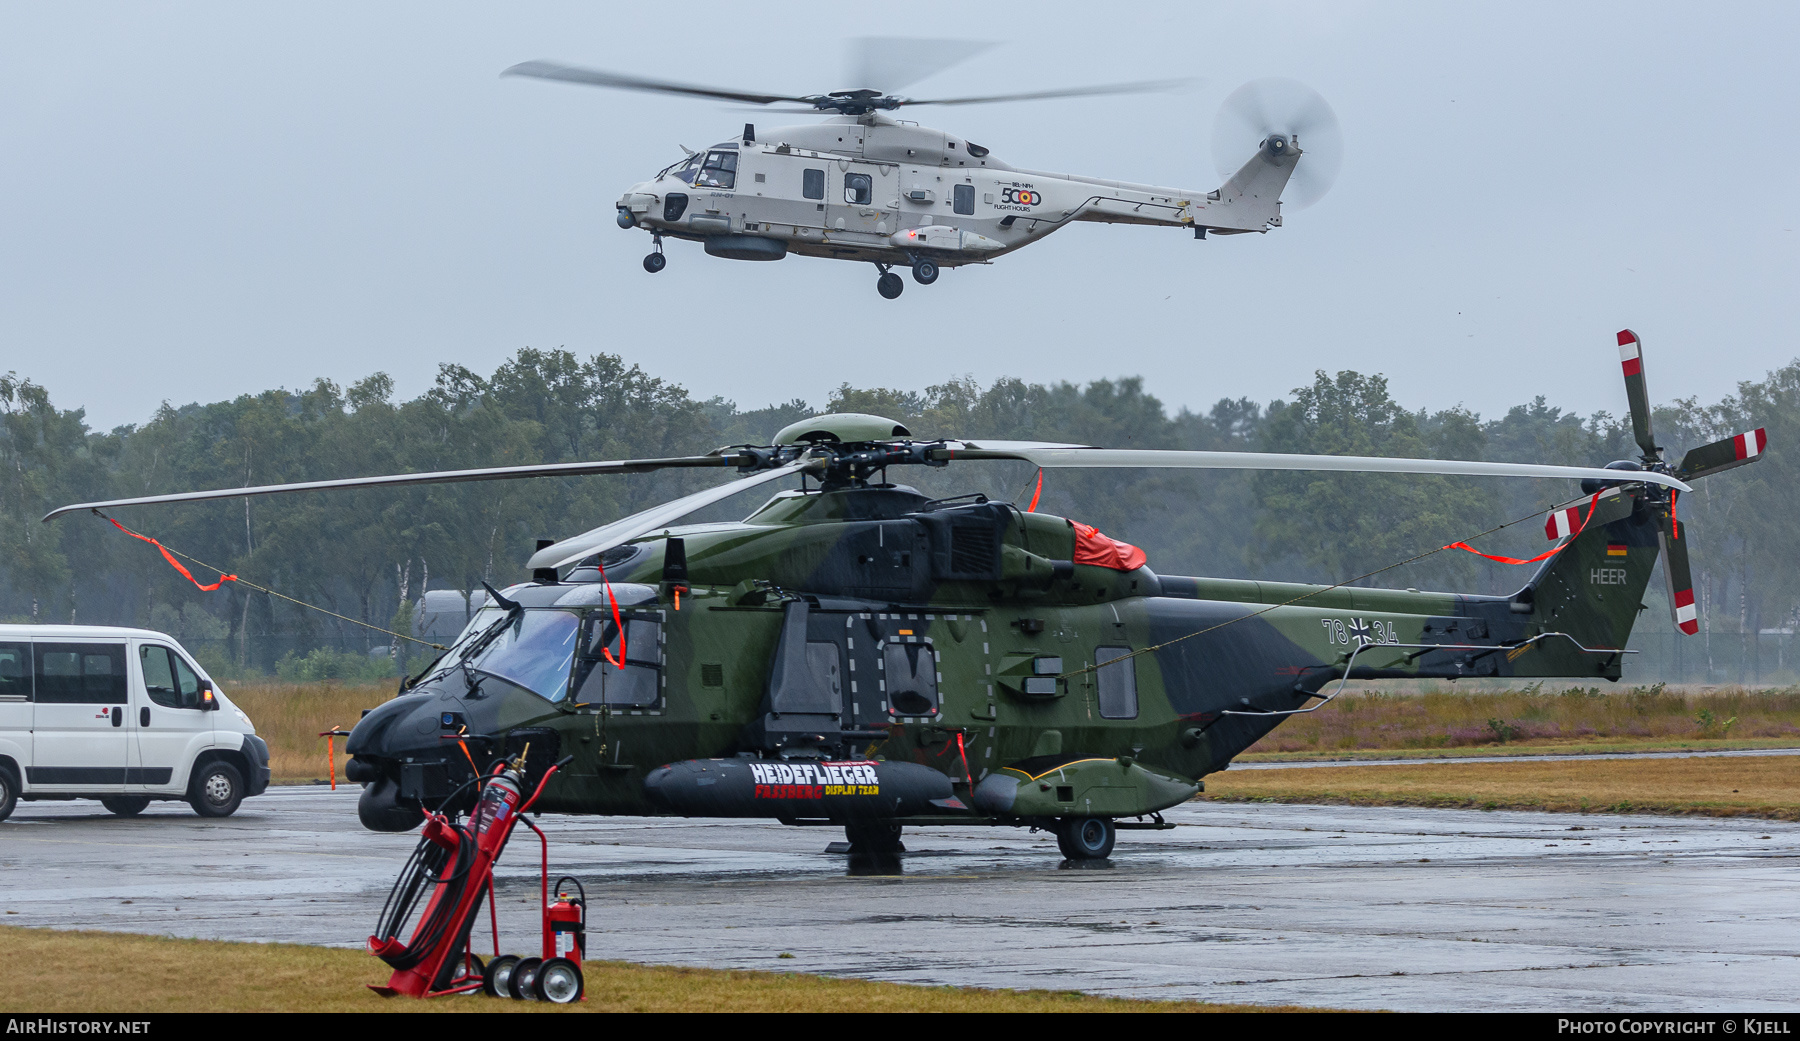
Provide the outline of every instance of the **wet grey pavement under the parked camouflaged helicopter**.
[[[223,821],[20,803],[0,924],[360,946],[416,839],[362,830],[355,800],[284,787]],[[1168,819],[1085,870],[1044,834],[913,830],[902,874],[877,875],[826,854],[828,828],[542,823],[599,958],[1418,1010],[1784,1010],[1800,992],[1800,825],[1265,803]],[[515,953],[538,946],[536,861],[520,830],[500,866]]]

